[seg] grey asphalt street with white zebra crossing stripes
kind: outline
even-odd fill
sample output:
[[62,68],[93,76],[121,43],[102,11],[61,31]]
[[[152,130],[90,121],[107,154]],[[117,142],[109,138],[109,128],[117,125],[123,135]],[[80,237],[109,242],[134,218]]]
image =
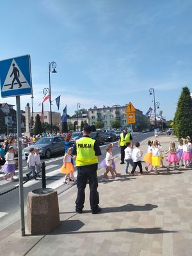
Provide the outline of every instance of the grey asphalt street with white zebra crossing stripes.
[[[153,132],[148,133],[135,133],[133,134],[133,141],[143,141],[148,137],[152,136]],[[106,142],[105,145],[100,146],[102,151],[102,156],[99,157],[99,163],[106,156],[106,147],[111,142]],[[146,143],[147,145],[147,143]],[[120,149],[118,148],[118,141],[114,142],[113,147],[113,156],[120,157]],[[69,189],[71,186],[74,186],[74,183],[71,182],[68,185],[63,184],[63,175],[60,173],[60,168],[63,164],[63,154],[56,155],[50,159],[42,159],[46,164],[46,184],[47,188],[53,188],[58,191],[58,195],[63,193],[63,191]],[[26,167],[26,161],[23,161],[23,177],[24,181],[26,180],[26,173],[28,173],[28,168]],[[100,169],[100,166],[99,166]],[[77,174],[75,169],[75,175]],[[17,173],[16,173],[17,175]],[[3,175],[0,177],[0,193],[7,191],[15,186],[18,186],[19,181],[6,181],[3,180]],[[30,191],[34,189],[41,188],[42,180],[29,180],[24,184],[24,204],[26,208],[26,198]],[[26,211],[25,211],[26,212]],[[0,230],[7,227],[11,223],[20,219],[20,207],[19,207],[19,188],[10,191],[4,195],[0,196]]]

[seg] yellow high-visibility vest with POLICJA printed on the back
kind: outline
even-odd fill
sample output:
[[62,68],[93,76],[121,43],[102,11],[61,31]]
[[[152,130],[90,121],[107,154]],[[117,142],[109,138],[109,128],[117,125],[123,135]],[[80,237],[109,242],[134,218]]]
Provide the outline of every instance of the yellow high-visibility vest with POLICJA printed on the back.
[[98,163],[98,158],[95,156],[94,144],[95,140],[90,137],[83,137],[76,141],[76,166]]

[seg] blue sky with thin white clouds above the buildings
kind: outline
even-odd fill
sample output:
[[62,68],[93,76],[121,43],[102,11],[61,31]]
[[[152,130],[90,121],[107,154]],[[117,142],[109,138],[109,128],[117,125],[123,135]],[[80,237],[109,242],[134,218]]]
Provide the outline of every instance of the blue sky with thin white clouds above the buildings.
[[[155,88],[163,116],[173,118],[182,86],[192,91],[191,0],[17,0],[0,2],[0,60],[31,55],[33,108],[49,84],[73,114],[81,108],[132,102],[153,108]],[[1,99],[15,104],[15,97]],[[21,108],[31,104],[21,97]],[[49,102],[44,105],[49,110]],[[52,107],[56,111],[56,104]]]

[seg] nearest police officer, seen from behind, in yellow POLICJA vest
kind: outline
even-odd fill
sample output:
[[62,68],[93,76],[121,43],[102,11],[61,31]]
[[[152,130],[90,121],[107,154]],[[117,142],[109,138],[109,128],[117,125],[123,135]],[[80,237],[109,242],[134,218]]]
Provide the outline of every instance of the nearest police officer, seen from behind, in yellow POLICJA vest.
[[98,158],[101,155],[100,147],[97,141],[90,138],[92,127],[84,125],[83,137],[76,141],[72,155],[76,156],[77,166],[77,199],[76,212],[82,213],[84,207],[84,189],[89,181],[90,186],[90,206],[92,213],[101,211],[99,207],[99,193],[97,191],[97,167]]

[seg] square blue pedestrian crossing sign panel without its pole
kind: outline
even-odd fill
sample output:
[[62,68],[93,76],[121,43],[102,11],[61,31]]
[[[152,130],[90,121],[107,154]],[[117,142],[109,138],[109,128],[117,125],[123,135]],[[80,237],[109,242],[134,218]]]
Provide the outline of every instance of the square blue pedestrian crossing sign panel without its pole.
[[1,97],[32,93],[30,55],[0,61]]

